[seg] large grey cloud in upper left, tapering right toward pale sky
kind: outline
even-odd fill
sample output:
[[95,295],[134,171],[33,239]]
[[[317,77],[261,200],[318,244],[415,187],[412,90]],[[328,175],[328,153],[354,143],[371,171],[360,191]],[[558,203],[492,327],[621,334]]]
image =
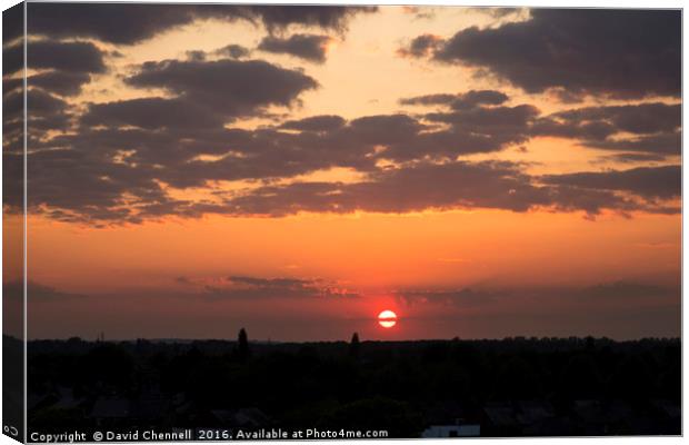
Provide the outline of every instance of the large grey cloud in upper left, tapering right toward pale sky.
[[174,98],[141,98],[92,103],[87,126],[208,131],[271,105],[290,106],[316,80],[260,60],[166,60],[147,62],[124,79],[139,88],[163,88]]

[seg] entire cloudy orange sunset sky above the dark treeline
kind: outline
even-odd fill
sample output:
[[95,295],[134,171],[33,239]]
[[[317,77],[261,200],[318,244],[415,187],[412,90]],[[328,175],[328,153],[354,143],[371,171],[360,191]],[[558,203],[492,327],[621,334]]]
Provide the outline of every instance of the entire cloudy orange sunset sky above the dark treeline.
[[29,337],[679,336],[680,21],[29,3]]

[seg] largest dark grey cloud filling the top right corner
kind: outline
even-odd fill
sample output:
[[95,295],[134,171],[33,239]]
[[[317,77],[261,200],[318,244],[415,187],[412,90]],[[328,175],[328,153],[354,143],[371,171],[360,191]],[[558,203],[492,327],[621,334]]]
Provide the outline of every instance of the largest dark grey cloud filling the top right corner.
[[[403,50],[486,69],[528,92],[679,97],[681,11],[532,9],[531,19],[467,28],[443,42],[421,36]],[[416,47],[415,47],[416,44]],[[415,50],[417,48],[417,50]]]

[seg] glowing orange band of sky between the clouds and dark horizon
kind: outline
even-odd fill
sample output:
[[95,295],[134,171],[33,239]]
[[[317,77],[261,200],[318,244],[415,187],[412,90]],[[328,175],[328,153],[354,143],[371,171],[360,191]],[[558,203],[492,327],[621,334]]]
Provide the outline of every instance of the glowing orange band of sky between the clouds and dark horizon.
[[[465,320],[466,309],[460,308],[461,322],[443,320],[452,307],[407,305],[393,293],[399,288],[579,288],[630,279],[676,287],[679,239],[679,218],[652,215],[631,219],[606,215],[595,221],[578,214],[502,210],[280,219],[210,216],[109,229],[30,218],[31,279],[74,294],[104,295],[101,303],[74,298],[59,305],[30,304],[29,313],[37,319],[31,326],[46,333],[41,336],[88,335],[106,320],[106,332],[120,338],[223,337],[239,325],[256,326],[252,330],[263,339],[338,339],[349,330],[381,339],[449,333],[462,337],[576,335],[572,328],[548,326],[549,314],[535,315],[533,307],[523,310],[519,307],[523,301],[511,309],[515,318],[495,325],[506,315],[491,318],[479,310],[488,319],[478,323],[475,317]],[[202,298],[203,285],[224,275],[318,277],[361,297],[194,303]],[[182,285],[179,277],[200,284]],[[179,296],[162,303],[161,293]],[[401,317],[393,329],[376,324],[376,315],[385,308]],[[94,320],[89,316],[93,310],[107,316]],[[57,314],[64,322],[56,326]],[[130,317],[132,324],[122,323]],[[300,317],[309,319],[307,326],[296,322]],[[540,322],[533,325],[525,317]],[[575,314],[571,318],[577,320]],[[637,320],[637,327],[643,328],[646,319]],[[543,322],[546,327],[540,326]],[[140,333],[130,330],[132,326]],[[593,332],[619,336],[619,329],[611,327],[595,325]],[[647,332],[672,335],[672,326],[666,327],[650,325]],[[622,335],[632,334],[622,330]]]

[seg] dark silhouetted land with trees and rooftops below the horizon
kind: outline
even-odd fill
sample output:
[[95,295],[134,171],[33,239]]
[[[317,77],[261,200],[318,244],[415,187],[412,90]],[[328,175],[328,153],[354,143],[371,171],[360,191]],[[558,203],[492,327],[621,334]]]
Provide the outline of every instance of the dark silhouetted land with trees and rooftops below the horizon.
[[681,434],[679,339],[34,340],[29,431]]

